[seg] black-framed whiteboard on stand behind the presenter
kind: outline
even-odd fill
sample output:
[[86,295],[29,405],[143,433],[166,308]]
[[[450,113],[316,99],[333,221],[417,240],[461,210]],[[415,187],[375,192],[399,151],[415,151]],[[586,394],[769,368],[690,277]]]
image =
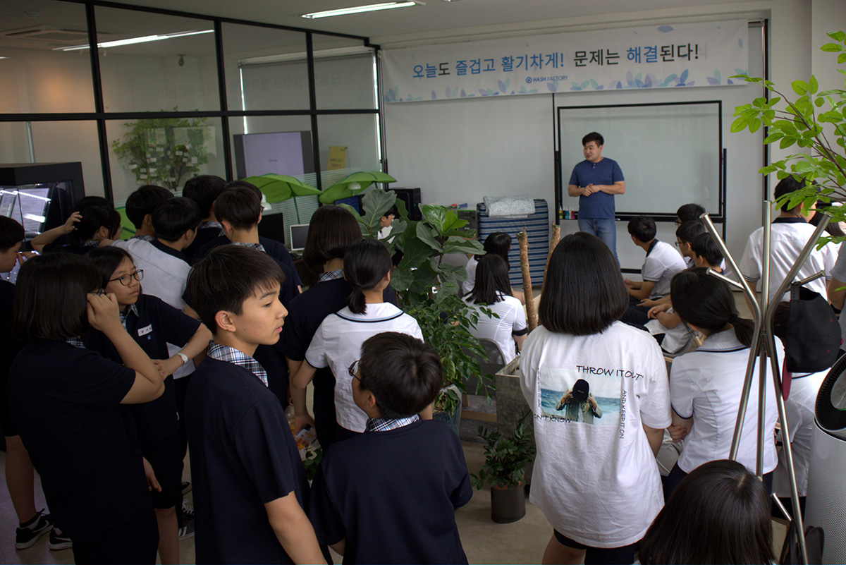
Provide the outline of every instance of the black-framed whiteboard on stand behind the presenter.
[[695,202],[719,219],[721,115],[719,101],[558,107],[562,190],[584,160],[582,137],[596,131],[605,138],[602,156],[619,163],[626,181],[614,198],[618,217],[675,216]]

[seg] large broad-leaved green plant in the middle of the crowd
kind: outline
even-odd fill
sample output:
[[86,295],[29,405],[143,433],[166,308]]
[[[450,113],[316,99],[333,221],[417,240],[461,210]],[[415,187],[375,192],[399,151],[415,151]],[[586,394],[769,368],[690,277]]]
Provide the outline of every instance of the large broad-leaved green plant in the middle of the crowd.
[[[467,222],[444,206],[422,205],[423,221],[410,220],[403,201],[393,191],[375,187],[366,190],[362,206],[365,214],[355,212],[355,216],[361,233],[370,238],[376,238],[379,220],[391,206],[398,208],[399,217],[382,240],[392,253],[399,250],[403,254],[393,270],[391,286],[400,307],[415,317],[423,339],[441,356],[444,391],[436,409],[452,414],[459,406],[459,394],[448,387],[454,385],[459,393],[466,392],[464,378],[481,374],[474,354],[484,357],[485,349],[470,334],[470,327],[478,321],[477,312],[456,293],[467,271],[464,266],[448,265],[443,258],[450,253],[481,255],[485,251],[475,239],[475,231],[463,229]],[[487,392],[487,382],[480,379],[476,392]]]

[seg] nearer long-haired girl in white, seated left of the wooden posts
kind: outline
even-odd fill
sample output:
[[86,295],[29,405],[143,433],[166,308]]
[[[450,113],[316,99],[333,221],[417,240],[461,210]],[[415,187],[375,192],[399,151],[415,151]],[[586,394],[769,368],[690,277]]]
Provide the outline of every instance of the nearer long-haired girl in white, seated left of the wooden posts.
[[[526,326],[526,314],[523,304],[511,296],[511,284],[508,282],[508,263],[499,255],[482,255],[476,267],[476,279],[473,290],[464,300],[479,315],[475,327],[470,333],[475,337],[494,340],[503,350],[506,363],[510,363],[517,350],[523,346],[529,328]],[[492,315],[486,315],[475,304],[485,304]]]

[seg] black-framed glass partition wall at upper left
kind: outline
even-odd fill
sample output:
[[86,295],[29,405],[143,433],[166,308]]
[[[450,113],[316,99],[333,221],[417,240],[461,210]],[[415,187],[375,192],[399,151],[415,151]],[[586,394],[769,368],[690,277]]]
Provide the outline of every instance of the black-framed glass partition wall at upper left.
[[118,206],[196,174],[383,168],[365,37],[98,0],[4,0],[0,21],[0,162],[80,161]]

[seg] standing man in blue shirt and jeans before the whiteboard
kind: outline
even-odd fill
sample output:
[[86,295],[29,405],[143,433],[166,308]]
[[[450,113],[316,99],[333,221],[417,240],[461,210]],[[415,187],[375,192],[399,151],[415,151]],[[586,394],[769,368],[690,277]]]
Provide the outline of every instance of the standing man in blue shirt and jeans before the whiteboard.
[[617,162],[602,156],[604,142],[596,132],[582,138],[585,161],[573,167],[567,193],[579,197],[579,231],[602,239],[617,259],[614,195],[625,193],[626,182]]

